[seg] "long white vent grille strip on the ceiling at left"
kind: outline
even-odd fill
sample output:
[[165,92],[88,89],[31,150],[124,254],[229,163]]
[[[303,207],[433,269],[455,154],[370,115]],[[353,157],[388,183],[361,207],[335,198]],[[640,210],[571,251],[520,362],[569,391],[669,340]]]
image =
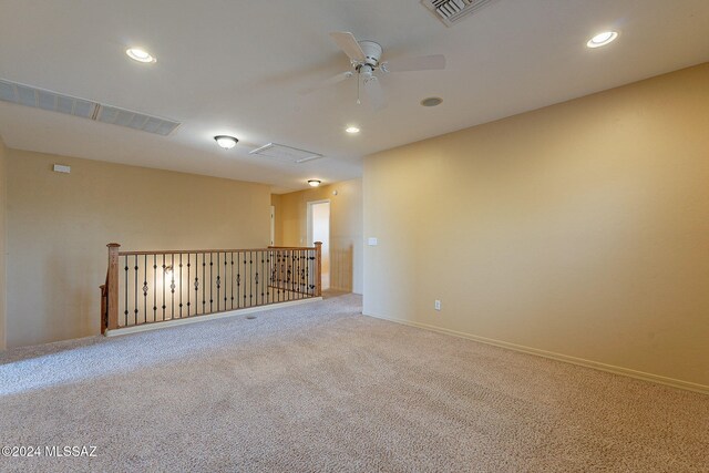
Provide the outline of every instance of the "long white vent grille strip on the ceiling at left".
[[178,122],[0,79],[0,100],[167,136]]

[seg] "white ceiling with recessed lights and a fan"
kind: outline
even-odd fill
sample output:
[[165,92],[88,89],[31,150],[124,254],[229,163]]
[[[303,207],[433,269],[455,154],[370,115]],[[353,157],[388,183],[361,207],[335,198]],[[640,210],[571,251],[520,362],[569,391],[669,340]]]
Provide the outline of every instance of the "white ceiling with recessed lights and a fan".
[[[615,43],[585,47],[607,29]],[[380,112],[354,103],[354,81],[300,95],[349,65],[330,31],[378,41],[384,60],[443,53],[448,68],[384,76]],[[0,102],[0,135],[284,192],[357,177],[373,152],[706,62],[708,31],[707,0],[499,0],[453,28],[419,0],[0,0],[0,78],[182,122],[163,137]],[[131,61],[130,45],[157,63]],[[431,95],[443,104],[419,105]],[[216,134],[242,143],[223,151]],[[326,158],[248,155],[269,142]]]

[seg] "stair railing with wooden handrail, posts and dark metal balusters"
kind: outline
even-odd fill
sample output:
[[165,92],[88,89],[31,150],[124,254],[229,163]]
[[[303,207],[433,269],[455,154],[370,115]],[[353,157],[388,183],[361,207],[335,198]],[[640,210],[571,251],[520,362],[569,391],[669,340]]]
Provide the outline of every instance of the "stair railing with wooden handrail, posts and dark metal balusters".
[[314,247],[121,251],[109,248],[101,332],[320,297]]

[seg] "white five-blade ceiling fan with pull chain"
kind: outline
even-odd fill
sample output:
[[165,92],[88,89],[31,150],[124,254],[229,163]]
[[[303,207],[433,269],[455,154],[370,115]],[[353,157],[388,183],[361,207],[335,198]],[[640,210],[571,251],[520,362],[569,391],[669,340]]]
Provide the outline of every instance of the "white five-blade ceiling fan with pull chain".
[[373,107],[381,110],[387,106],[387,100],[376,74],[378,71],[388,73],[445,69],[445,56],[443,54],[381,61],[383,50],[374,41],[357,41],[354,35],[349,32],[333,32],[330,33],[330,38],[350,59],[352,69],[333,75],[314,88],[306,89],[301,92],[304,94],[335,85],[357,74],[357,103],[360,103],[359,91],[361,85]]

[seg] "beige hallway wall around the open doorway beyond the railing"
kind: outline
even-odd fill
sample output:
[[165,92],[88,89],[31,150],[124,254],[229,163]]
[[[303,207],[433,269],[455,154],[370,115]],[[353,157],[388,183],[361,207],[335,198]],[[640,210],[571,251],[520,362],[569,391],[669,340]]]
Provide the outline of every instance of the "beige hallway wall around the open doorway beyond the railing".
[[312,200],[330,200],[330,287],[362,294],[362,179],[273,195],[277,246],[307,245]]

